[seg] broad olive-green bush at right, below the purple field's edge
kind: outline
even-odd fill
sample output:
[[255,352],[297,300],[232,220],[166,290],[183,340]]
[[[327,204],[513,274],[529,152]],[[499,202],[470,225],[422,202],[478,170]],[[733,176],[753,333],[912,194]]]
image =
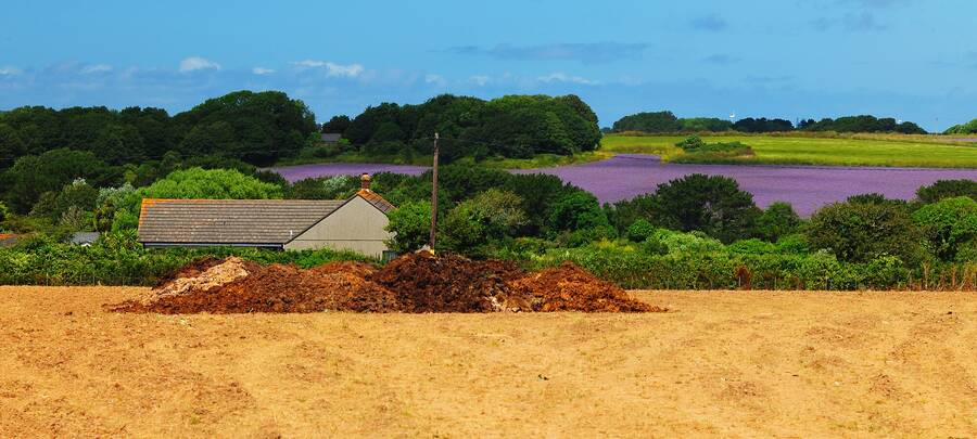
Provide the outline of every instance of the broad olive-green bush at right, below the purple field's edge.
[[813,248],[830,250],[845,261],[864,262],[897,256],[915,263],[923,256],[919,232],[906,209],[891,204],[825,206],[811,218],[807,237]]

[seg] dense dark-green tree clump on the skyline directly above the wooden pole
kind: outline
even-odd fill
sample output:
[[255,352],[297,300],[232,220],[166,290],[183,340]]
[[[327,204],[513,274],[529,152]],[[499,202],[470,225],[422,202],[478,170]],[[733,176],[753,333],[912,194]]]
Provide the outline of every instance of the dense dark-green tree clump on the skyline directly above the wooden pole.
[[568,155],[600,141],[597,116],[574,95],[507,95],[492,101],[443,94],[420,105],[383,103],[356,116],[343,132],[370,155],[430,154],[442,137],[442,158]]

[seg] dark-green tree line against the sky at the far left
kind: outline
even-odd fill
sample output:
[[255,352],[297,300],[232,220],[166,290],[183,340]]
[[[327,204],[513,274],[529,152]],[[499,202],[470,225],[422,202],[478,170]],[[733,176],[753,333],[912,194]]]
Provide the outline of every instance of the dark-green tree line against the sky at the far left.
[[305,103],[278,91],[232,92],[173,116],[138,106],[24,106],[0,112],[0,169],[59,149],[91,153],[112,166],[139,165],[167,153],[265,165],[297,154],[317,130]]

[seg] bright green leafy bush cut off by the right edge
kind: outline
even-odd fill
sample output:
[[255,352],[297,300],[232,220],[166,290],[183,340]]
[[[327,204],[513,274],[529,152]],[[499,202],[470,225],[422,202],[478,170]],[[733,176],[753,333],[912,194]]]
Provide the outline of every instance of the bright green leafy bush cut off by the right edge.
[[977,246],[977,202],[970,197],[943,198],[923,206],[913,214],[913,220],[929,250],[940,259],[954,260],[962,248]]

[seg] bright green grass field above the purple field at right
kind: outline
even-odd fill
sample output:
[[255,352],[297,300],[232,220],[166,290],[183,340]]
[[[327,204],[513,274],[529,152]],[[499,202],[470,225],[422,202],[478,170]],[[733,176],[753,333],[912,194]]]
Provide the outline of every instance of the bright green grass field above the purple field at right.
[[[675,143],[683,139],[681,135],[610,134],[604,137],[600,151],[658,154],[671,160],[682,154]],[[951,144],[940,138],[716,135],[702,139],[709,143],[738,141],[751,146],[756,156],[737,159],[745,164],[977,168],[977,143]]]

